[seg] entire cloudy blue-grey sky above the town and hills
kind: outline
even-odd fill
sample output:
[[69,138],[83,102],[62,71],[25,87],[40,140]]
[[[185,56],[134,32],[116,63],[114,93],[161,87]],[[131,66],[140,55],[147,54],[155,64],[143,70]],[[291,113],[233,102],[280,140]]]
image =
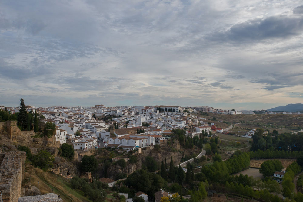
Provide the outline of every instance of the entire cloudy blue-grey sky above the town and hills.
[[303,103],[303,1],[0,1],[0,105]]

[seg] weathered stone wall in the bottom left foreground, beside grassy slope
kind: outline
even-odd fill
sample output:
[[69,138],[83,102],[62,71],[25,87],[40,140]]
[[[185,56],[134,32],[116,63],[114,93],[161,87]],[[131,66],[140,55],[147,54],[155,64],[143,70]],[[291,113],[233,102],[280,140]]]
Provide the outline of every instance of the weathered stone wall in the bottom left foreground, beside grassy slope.
[[9,151],[0,154],[0,191],[3,202],[17,202],[24,178],[25,151]]

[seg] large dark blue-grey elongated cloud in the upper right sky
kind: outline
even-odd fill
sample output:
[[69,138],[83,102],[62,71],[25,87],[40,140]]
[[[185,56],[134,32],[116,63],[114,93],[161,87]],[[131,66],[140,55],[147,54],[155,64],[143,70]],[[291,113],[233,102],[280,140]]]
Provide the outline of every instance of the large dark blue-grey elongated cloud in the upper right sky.
[[233,25],[228,31],[213,34],[214,41],[251,42],[300,35],[303,18],[272,16]]

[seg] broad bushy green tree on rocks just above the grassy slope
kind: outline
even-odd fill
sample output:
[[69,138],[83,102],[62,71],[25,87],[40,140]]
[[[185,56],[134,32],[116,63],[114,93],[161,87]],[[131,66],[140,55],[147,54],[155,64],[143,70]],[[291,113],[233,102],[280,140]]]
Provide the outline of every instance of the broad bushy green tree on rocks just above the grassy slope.
[[54,166],[54,159],[54,156],[49,152],[46,150],[41,150],[37,155],[34,155],[32,157],[32,162],[35,167],[39,167],[41,169],[49,169]]

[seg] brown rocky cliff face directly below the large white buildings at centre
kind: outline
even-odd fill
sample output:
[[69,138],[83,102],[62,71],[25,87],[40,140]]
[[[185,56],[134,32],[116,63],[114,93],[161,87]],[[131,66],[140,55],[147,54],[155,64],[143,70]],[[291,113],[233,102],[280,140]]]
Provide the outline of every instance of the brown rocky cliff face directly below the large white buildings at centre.
[[[174,148],[175,151],[172,151],[171,148]],[[158,161],[161,164],[161,161],[166,162],[169,165],[171,157],[175,163],[178,165],[182,158],[182,154],[179,152],[180,144],[178,141],[173,143],[172,145],[168,145],[167,143],[163,143],[160,145],[160,149],[151,149],[151,150],[143,150],[141,154],[135,154],[137,156],[137,163],[131,164],[127,162],[125,168],[121,168],[118,164],[112,164],[106,173],[107,178],[114,179],[119,173],[122,174],[131,174],[136,170],[142,169],[142,165],[145,164],[145,157],[151,156],[153,159]]]

